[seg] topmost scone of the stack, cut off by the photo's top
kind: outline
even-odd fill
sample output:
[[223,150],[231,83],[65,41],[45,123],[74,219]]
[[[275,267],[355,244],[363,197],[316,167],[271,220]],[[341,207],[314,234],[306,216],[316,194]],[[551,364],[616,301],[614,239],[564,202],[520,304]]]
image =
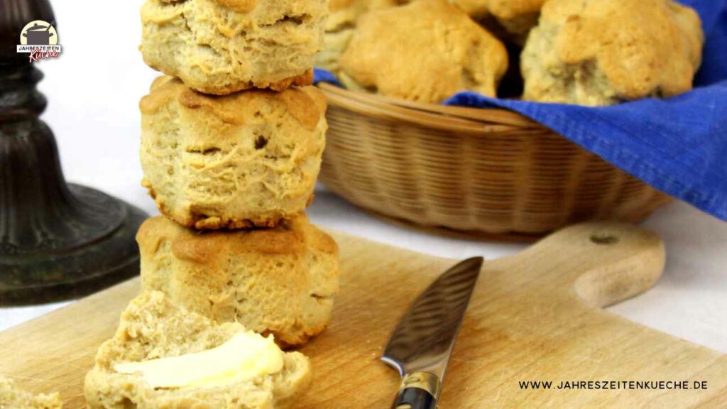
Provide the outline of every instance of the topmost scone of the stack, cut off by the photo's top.
[[141,51],[206,94],[284,90],[313,80],[327,16],[327,0],[148,0]]

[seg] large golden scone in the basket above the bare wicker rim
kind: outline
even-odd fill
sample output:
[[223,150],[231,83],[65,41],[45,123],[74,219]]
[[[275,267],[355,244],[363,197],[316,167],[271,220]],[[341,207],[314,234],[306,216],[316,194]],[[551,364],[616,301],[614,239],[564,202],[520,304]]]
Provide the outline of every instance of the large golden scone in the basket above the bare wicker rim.
[[361,17],[340,65],[344,82],[439,103],[464,90],[494,96],[507,52],[446,0],[417,0]]

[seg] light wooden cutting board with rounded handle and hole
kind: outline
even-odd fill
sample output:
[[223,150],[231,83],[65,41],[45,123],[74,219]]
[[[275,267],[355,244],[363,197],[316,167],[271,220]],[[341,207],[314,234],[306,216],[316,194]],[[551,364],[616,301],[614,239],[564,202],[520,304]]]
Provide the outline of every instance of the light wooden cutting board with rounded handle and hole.
[[[409,303],[452,260],[334,234],[341,293],[328,330],[302,349],[316,381],[300,408],[389,408],[399,378],[378,358]],[[485,263],[440,408],[727,408],[726,355],[600,307],[654,285],[664,247],[641,229],[590,223]],[[138,280],[0,334],[0,373],[83,408],[84,374]],[[689,390],[523,390],[518,381],[695,381]]]

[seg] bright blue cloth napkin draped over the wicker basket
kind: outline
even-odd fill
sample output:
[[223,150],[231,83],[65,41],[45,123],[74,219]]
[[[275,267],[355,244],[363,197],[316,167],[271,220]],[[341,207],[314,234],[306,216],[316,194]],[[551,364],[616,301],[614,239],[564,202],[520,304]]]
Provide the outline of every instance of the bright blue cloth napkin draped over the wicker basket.
[[[702,17],[707,41],[694,90],[590,108],[461,92],[445,105],[528,116],[654,188],[727,221],[727,0],[680,0]],[[316,82],[339,84],[316,70]],[[340,84],[339,84],[340,85]]]

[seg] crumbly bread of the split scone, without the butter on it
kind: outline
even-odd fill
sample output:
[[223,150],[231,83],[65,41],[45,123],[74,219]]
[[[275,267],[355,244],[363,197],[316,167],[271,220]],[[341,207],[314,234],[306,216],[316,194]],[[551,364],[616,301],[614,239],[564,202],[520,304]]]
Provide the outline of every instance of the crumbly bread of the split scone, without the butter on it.
[[87,374],[84,394],[91,409],[126,408],[289,408],[305,394],[310,362],[299,352],[284,354],[277,373],[214,386],[155,388],[140,373],[117,372],[117,365],[179,357],[225,344],[245,328],[237,322],[215,324],[170,302],[162,293],[134,298],[113,338],[96,354]]

